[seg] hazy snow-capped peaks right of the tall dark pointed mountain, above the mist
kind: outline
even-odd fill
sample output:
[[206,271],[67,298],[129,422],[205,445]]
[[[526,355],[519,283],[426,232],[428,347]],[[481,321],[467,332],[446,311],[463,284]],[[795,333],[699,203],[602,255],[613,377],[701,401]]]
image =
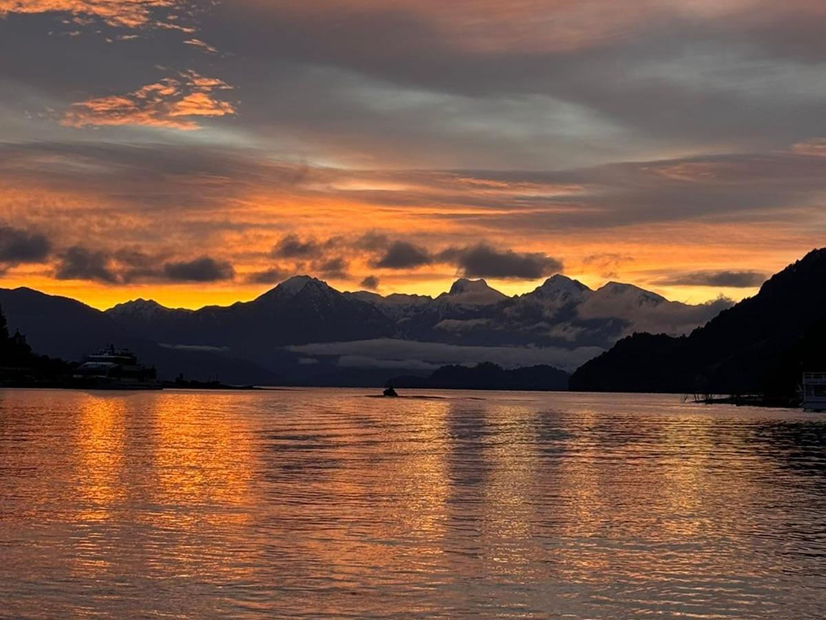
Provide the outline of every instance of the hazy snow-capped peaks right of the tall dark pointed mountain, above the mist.
[[[460,279],[430,300],[390,304],[376,293],[348,293],[373,303],[396,322],[400,337],[463,346],[557,346],[607,349],[634,331],[681,335],[731,303],[670,302],[630,284],[596,291],[561,274],[530,293],[506,297],[484,280]],[[392,297],[392,296],[391,296]]]

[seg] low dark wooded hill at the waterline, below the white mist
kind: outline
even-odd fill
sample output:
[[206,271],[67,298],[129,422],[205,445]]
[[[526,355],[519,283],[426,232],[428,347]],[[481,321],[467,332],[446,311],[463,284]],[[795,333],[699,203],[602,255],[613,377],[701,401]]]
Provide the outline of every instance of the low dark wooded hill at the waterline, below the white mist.
[[430,389],[519,389],[559,391],[567,389],[568,374],[548,365],[505,370],[482,362],[475,366],[448,365],[429,377],[395,377],[387,384],[396,388]]

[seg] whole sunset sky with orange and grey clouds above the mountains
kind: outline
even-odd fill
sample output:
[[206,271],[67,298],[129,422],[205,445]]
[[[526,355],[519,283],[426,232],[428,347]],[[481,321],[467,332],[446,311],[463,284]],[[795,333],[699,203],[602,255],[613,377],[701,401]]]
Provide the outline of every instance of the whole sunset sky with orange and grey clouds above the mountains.
[[0,286],[754,294],[826,246],[823,0],[0,0]]

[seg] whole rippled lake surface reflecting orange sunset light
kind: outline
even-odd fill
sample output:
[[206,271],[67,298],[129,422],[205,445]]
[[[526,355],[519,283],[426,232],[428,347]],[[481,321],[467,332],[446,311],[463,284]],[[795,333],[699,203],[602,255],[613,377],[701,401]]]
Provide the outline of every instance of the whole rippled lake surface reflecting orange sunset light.
[[826,417],[365,393],[0,391],[0,615],[826,612]]

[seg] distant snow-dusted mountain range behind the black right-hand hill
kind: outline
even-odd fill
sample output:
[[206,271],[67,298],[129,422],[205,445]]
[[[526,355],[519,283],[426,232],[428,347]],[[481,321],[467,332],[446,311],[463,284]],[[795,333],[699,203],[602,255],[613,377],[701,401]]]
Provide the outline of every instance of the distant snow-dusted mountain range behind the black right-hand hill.
[[10,326],[47,355],[78,360],[113,342],[166,378],[321,385],[482,361],[570,372],[634,331],[681,335],[730,305],[670,302],[613,282],[592,290],[563,275],[514,297],[482,279],[459,279],[431,298],[340,292],[301,275],[252,301],[198,310],[136,299],[101,312],[25,288],[0,289],[0,303]]

